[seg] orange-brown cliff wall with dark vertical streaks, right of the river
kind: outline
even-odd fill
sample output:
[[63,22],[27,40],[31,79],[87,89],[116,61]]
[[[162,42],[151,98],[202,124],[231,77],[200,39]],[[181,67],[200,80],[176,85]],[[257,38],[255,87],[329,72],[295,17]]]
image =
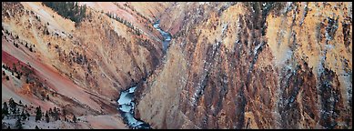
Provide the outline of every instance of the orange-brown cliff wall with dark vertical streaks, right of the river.
[[161,16],[166,62],[136,116],[155,128],[352,128],[351,8],[174,4]]

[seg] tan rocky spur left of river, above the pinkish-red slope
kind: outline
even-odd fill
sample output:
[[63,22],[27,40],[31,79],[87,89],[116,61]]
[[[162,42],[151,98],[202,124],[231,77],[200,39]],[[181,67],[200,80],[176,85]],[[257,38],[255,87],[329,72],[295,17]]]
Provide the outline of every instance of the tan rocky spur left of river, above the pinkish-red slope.
[[[116,99],[118,89],[146,76],[162,56],[162,47],[155,39],[135,35],[126,25],[98,11],[88,10],[86,20],[75,27],[39,3],[17,5],[25,11],[9,12],[11,7],[8,7],[3,12],[6,32],[19,36],[14,42],[36,46],[35,53],[31,53],[35,55],[29,57],[45,60],[45,65],[55,66],[76,85],[110,99]],[[42,13],[35,12],[36,8]],[[48,13],[53,17],[46,18]],[[67,25],[56,23],[57,19]],[[5,45],[5,51],[7,46],[11,45]]]

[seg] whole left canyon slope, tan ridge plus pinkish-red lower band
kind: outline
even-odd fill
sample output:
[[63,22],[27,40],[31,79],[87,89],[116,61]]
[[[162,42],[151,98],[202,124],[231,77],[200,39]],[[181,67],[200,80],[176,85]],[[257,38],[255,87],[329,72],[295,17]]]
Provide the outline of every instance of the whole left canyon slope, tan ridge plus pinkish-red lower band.
[[162,43],[150,18],[124,6],[116,6],[124,23],[95,6],[75,23],[41,3],[2,3],[2,102],[14,98],[44,110],[56,106],[87,121],[119,122],[83,128],[126,128],[116,98],[157,67]]

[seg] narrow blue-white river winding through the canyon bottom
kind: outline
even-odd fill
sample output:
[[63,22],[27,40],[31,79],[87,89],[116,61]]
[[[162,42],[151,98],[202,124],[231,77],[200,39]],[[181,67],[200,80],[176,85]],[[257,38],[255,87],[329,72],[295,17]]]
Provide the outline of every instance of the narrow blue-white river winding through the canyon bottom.
[[[159,20],[157,23],[154,24],[154,27],[157,29],[158,32],[163,36],[162,47],[163,51],[167,51],[167,47],[169,42],[171,41],[171,35],[165,31],[163,31],[159,27]],[[123,116],[124,121],[126,122],[127,126],[133,129],[150,129],[151,127],[144,121],[137,119],[134,113],[135,109],[135,96],[134,92],[136,91],[137,86],[131,86],[130,88],[122,91],[120,96],[117,100],[118,102],[118,110]]]

